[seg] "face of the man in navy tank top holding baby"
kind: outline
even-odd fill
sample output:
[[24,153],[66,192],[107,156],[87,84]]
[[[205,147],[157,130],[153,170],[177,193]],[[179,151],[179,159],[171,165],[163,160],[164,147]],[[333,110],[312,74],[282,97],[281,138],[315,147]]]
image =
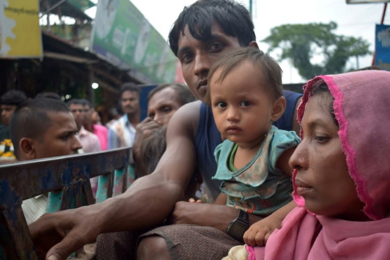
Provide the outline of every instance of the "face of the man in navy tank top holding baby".
[[206,102],[207,74],[211,65],[221,55],[240,47],[238,39],[226,36],[216,22],[211,26],[209,41],[193,38],[185,26],[184,34],[179,36],[177,57],[184,80],[194,96]]

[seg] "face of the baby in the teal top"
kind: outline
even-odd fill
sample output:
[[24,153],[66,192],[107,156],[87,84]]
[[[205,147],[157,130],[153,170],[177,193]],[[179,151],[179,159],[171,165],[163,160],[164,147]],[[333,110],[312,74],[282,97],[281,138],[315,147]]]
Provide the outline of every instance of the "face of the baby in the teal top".
[[258,71],[244,61],[222,81],[216,80],[217,70],[209,82],[215,124],[223,137],[241,148],[257,149],[274,118],[274,101]]

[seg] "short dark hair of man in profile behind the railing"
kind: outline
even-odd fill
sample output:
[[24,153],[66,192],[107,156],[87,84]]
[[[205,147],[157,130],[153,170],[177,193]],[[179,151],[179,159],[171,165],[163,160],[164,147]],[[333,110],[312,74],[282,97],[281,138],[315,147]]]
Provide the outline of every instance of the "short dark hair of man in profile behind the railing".
[[10,134],[15,155],[19,157],[19,142],[23,137],[42,140],[43,134],[52,124],[48,113],[71,112],[67,104],[50,98],[28,101],[17,107],[10,119]]

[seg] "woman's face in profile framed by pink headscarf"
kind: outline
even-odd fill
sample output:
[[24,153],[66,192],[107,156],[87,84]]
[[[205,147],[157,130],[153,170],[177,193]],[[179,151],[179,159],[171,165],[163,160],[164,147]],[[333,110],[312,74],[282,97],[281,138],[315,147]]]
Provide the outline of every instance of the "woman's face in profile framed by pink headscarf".
[[296,191],[305,199],[306,208],[317,215],[366,220],[331,114],[332,102],[329,93],[321,92],[306,104],[303,139],[289,160],[297,169]]

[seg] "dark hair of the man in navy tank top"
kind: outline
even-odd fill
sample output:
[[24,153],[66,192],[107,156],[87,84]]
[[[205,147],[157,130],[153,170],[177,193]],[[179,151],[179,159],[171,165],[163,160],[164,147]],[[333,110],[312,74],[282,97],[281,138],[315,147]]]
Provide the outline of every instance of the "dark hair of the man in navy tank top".
[[256,41],[254,26],[249,11],[233,0],[198,0],[184,7],[169,33],[169,45],[177,56],[180,34],[188,29],[193,38],[199,41],[211,39],[211,25],[216,22],[222,31],[237,38],[242,47]]

